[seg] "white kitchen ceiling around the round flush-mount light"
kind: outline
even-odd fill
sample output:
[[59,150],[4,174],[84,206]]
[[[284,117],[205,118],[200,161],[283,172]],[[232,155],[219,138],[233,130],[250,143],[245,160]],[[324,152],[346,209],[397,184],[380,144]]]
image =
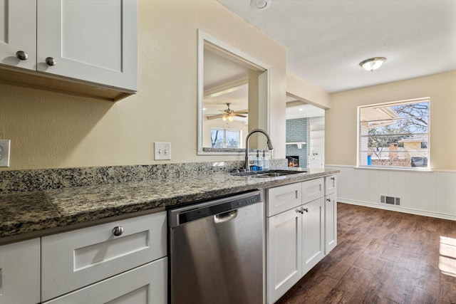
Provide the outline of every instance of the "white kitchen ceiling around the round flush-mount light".
[[[456,70],[456,1],[218,0],[286,46],[286,70],[335,93]],[[373,72],[358,63],[383,56]]]

